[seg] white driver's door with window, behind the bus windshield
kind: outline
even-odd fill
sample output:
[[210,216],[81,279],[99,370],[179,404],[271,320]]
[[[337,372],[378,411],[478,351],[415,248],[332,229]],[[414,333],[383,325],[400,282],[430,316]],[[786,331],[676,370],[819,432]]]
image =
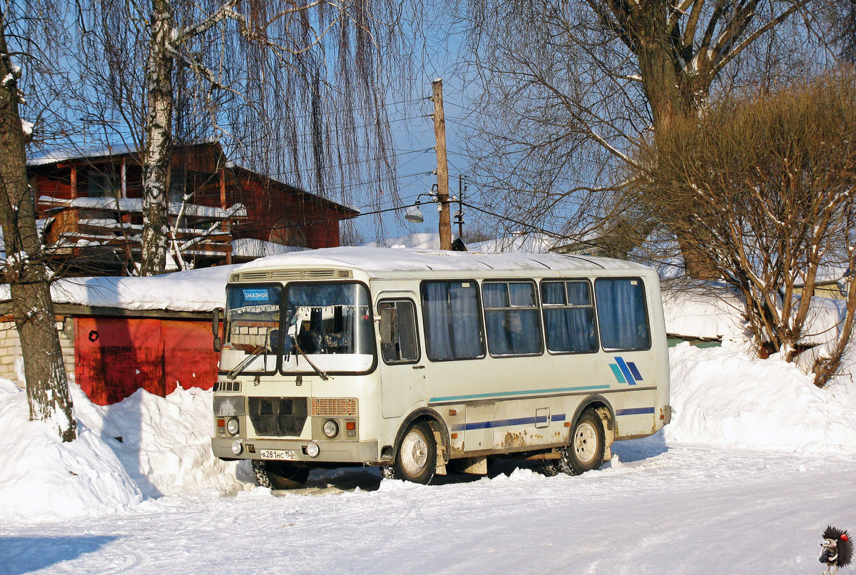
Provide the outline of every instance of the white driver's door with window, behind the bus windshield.
[[380,317],[381,414],[399,418],[413,404],[425,400],[425,362],[419,349],[416,305],[413,299],[384,298],[377,304]]

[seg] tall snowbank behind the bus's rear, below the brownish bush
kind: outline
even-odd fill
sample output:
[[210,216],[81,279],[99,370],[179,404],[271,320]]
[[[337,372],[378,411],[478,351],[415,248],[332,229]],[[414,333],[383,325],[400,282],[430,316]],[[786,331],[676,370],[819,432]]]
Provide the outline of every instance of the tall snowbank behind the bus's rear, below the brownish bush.
[[776,356],[748,359],[726,345],[669,350],[672,423],[667,442],[856,453],[851,377],[817,388]]

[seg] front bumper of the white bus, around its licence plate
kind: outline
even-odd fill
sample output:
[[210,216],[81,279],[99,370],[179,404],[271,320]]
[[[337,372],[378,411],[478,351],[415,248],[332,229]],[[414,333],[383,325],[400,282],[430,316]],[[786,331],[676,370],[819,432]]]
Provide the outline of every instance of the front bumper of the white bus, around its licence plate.
[[[294,461],[306,463],[377,463],[377,442],[311,442],[306,439],[240,439],[244,446],[240,455],[232,453],[234,437],[212,437],[211,450],[221,459],[261,459],[262,449],[294,451]],[[310,457],[304,448],[315,443],[318,457]],[[289,459],[290,460],[290,459]]]

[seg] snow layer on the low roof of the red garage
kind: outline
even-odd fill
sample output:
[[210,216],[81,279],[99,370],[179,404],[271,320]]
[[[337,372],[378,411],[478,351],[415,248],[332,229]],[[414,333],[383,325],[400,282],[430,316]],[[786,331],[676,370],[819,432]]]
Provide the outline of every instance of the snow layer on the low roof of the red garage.
[[[54,303],[126,310],[211,311],[223,307],[226,282],[236,267],[223,265],[151,277],[68,278],[51,284],[51,297]],[[9,285],[0,285],[0,301],[9,297]]]

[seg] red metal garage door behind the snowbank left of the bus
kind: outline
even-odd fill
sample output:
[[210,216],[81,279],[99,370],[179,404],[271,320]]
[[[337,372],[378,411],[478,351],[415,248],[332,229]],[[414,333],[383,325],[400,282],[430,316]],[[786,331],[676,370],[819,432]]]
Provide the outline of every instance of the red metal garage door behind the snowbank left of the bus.
[[165,395],[176,385],[208,389],[217,381],[206,321],[75,317],[74,334],[77,382],[98,405],[139,388]]

